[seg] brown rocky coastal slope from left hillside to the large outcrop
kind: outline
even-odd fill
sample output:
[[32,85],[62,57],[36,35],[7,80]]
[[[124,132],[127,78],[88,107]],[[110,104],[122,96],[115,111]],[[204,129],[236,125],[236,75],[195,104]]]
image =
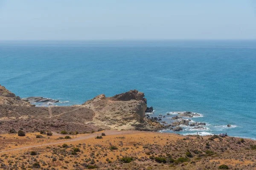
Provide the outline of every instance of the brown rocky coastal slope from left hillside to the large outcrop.
[[113,97],[104,94],[82,105],[33,107],[29,102],[0,86],[0,133],[10,129],[26,132],[51,130],[91,133],[98,130],[160,130],[158,122],[145,118],[144,94],[128,91]]

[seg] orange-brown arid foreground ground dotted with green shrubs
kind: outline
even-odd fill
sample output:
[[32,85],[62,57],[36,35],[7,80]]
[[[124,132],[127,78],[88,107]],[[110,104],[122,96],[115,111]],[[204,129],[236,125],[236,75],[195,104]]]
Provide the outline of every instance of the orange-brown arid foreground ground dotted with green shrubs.
[[[102,133],[106,136],[96,139]],[[62,139],[65,136],[72,139]],[[214,170],[223,164],[233,170],[253,170],[255,159],[255,141],[228,136],[107,130],[74,138],[58,133],[0,137],[4,170]]]

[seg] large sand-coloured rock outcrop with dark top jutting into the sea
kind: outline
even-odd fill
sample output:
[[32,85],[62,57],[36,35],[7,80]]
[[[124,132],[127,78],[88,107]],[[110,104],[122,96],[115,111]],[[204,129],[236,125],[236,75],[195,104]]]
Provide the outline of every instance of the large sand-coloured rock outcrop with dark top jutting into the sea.
[[82,104],[92,109],[94,121],[118,130],[158,130],[162,125],[145,119],[147,108],[144,93],[131,90],[113,97],[104,94]]

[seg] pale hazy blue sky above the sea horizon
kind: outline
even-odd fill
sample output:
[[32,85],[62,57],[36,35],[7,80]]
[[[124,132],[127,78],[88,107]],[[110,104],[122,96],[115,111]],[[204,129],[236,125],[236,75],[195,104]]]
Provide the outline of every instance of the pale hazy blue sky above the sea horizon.
[[256,0],[0,0],[0,40],[256,39]]

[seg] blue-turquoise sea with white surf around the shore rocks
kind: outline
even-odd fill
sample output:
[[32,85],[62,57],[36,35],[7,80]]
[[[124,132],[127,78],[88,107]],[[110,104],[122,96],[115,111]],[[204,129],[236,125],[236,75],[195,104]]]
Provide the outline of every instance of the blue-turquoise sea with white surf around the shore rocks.
[[207,123],[177,133],[256,139],[255,40],[2,41],[0,84],[57,105],[137,89],[151,116],[192,111],[201,114],[192,121]]

